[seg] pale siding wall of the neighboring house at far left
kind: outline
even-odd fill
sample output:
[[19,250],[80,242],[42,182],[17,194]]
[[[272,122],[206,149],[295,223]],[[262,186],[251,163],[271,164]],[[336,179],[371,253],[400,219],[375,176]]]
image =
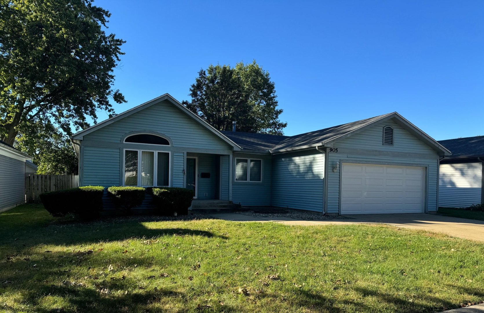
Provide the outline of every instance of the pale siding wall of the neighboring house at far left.
[[25,160],[0,155],[0,211],[25,202]]

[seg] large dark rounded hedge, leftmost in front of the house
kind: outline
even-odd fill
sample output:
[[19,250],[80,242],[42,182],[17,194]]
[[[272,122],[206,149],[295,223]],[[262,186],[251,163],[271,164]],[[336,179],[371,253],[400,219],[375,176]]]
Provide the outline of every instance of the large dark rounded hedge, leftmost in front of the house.
[[40,199],[52,216],[74,213],[83,219],[93,219],[103,209],[103,192],[103,186],[86,186],[45,192]]

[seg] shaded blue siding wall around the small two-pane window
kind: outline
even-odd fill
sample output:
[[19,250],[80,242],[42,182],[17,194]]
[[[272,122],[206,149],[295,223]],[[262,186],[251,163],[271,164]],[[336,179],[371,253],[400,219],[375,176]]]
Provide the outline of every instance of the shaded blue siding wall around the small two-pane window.
[[[272,161],[270,157],[260,155],[234,154],[235,158],[262,159],[262,182],[232,182],[232,201],[244,206],[271,205]],[[232,169],[234,171],[234,169]],[[235,175],[233,175],[235,177]]]

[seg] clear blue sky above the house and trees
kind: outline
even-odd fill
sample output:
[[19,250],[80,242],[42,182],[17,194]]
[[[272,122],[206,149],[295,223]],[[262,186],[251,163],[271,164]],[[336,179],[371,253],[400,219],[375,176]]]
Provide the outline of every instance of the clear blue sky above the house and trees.
[[200,68],[256,59],[286,135],[393,111],[437,140],[484,135],[483,0],[94,3],[127,41],[118,113],[189,100]]

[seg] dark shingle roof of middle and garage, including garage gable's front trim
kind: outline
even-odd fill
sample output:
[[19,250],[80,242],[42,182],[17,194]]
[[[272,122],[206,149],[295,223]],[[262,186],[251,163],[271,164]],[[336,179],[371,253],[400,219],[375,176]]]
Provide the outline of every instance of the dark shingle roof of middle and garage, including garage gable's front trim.
[[335,141],[345,139],[354,133],[360,132],[376,123],[384,122],[389,119],[393,119],[397,124],[407,129],[408,132],[419,138],[421,141],[433,147],[434,150],[439,151],[439,153],[443,155],[451,154],[451,152],[443,145],[425,134],[417,126],[408,122],[397,112],[378,115],[364,120],[332,126],[290,137],[230,131],[224,131],[223,133],[242,146],[243,150],[282,153],[293,150],[331,146]]

